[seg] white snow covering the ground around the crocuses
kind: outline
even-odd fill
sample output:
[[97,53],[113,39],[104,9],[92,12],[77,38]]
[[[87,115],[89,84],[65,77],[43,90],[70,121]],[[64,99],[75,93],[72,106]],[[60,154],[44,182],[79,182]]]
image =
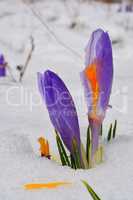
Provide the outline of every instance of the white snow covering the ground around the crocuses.
[[[29,37],[36,49],[22,84],[0,80],[0,200],[88,200],[80,180],[85,179],[102,200],[131,200],[133,185],[133,14],[117,13],[117,6],[76,4],[74,0],[45,0],[30,4],[54,31],[74,49],[61,46],[18,0],[0,1],[0,49],[17,78],[15,66],[23,64]],[[71,2],[71,4],[69,4]],[[70,29],[76,20],[77,26]],[[82,140],[87,128],[86,106],[79,72],[84,67],[84,47],[96,28],[107,30],[114,43],[114,85],[107,113],[109,122],[118,119],[117,139],[105,148],[105,161],[94,169],[73,171],[39,157],[37,138],[46,136],[56,154],[53,128],[38,93],[36,72],[52,69],[67,84],[75,99]],[[116,43],[118,41],[118,43]],[[106,130],[104,130],[106,136]],[[72,186],[56,190],[25,191],[30,182],[69,181]]]

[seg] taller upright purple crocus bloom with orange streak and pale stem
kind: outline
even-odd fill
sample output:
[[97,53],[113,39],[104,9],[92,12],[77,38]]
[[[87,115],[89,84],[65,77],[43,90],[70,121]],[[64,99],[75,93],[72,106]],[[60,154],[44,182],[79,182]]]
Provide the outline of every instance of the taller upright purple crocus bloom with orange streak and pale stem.
[[108,108],[113,79],[112,47],[108,33],[94,31],[86,47],[85,69],[81,73],[92,131],[92,156],[98,149],[99,132]]

